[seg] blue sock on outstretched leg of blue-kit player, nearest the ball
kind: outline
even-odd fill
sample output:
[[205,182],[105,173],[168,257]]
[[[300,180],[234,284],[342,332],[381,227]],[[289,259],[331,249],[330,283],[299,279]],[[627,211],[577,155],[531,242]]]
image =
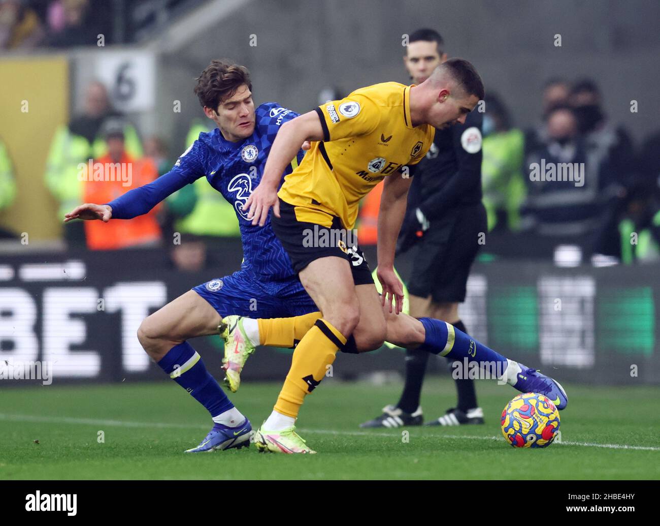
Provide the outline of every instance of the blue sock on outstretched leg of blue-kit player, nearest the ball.
[[424,343],[419,347],[421,350],[446,356],[449,359],[464,359],[477,361],[480,365],[493,363],[496,371],[506,371],[507,359],[494,350],[473,340],[455,326],[433,318],[420,318],[424,325],[426,335]]

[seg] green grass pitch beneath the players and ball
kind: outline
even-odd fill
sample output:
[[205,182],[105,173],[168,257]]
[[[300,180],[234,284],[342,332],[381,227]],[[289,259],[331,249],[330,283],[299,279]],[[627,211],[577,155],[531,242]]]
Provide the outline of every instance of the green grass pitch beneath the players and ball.
[[[499,425],[502,408],[517,394],[509,386],[477,383],[484,426],[411,427],[406,441],[402,430],[358,428],[395,402],[401,385],[325,379],[298,421],[317,455],[260,454],[253,445],[184,455],[211,420],[174,383],[2,389],[0,479],[660,478],[659,388],[564,387],[570,402],[561,413],[562,443],[513,449]],[[231,398],[257,427],[279,388],[244,383]],[[427,379],[427,419],[454,402],[451,379]]]

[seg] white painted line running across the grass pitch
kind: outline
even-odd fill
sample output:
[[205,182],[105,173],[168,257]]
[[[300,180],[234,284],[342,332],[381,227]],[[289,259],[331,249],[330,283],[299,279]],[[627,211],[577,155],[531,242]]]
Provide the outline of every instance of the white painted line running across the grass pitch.
[[[38,422],[40,424],[82,424],[88,426],[116,426],[122,428],[176,428],[176,429],[208,429],[209,426],[201,424],[171,424],[166,422],[127,422],[126,420],[104,420],[100,418],[72,418],[68,416],[33,416],[27,414],[0,413],[0,420],[12,420],[14,422]],[[396,433],[378,433],[366,431],[335,431],[300,429],[302,433],[318,433],[321,435],[346,435],[346,436],[368,436],[368,437],[397,437]],[[438,438],[468,439],[468,440],[496,440],[504,441],[503,437],[478,437],[475,435],[434,435]],[[660,447],[626,444],[598,444],[593,442],[557,442],[558,445],[579,445],[583,447],[604,447],[606,449],[634,449],[637,451],[660,451]]]

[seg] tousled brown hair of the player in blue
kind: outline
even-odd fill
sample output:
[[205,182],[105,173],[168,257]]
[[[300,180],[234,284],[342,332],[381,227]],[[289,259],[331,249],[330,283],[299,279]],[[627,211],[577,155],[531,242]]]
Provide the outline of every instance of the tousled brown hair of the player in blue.
[[194,91],[199,104],[214,110],[223,100],[234,96],[242,85],[247,85],[252,91],[248,68],[227,59],[211,61],[195,80],[197,85]]

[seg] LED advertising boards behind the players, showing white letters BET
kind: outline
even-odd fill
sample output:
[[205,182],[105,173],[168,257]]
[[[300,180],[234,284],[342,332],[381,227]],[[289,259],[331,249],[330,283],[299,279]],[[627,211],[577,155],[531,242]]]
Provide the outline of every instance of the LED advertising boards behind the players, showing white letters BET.
[[[240,266],[240,242],[218,243],[208,252],[209,265],[199,272],[177,270],[158,249],[124,250],[121,258],[83,250],[3,258],[0,340],[5,365],[39,361],[51,368],[53,383],[162,379],[137,340],[137,328],[149,313],[190,287]],[[371,248],[368,257],[375,266]],[[410,268],[411,258],[397,261],[404,279]],[[473,337],[526,365],[552,371],[562,381],[657,384],[660,283],[649,276],[657,275],[660,266],[646,271],[480,263],[469,280],[461,319]],[[254,315],[259,316],[259,298]],[[215,375],[222,374],[220,338],[198,338],[195,349]],[[291,352],[259,349],[244,379],[281,379]],[[342,354],[333,377],[374,378],[374,371],[402,371],[401,353],[383,347],[360,356]],[[444,360],[432,362],[436,373],[447,374]],[[0,382],[0,387],[20,384]]]

